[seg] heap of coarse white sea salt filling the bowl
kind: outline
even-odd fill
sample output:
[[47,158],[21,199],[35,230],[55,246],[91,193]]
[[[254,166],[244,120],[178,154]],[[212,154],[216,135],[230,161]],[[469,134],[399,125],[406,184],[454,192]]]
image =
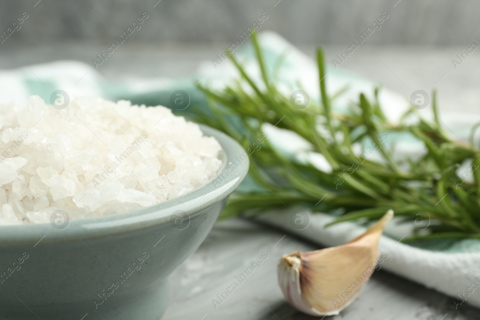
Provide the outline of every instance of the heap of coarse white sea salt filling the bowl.
[[0,105],[0,225],[120,213],[215,178],[220,144],[162,107],[98,97],[57,110],[38,96]]

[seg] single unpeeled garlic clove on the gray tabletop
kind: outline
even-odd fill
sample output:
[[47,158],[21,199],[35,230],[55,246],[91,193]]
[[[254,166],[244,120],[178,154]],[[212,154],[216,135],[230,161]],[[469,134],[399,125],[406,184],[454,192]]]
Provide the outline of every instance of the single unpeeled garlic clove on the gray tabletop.
[[278,283],[290,304],[312,316],[337,315],[370,279],[378,258],[378,241],[393,218],[387,213],[348,243],[283,255]]

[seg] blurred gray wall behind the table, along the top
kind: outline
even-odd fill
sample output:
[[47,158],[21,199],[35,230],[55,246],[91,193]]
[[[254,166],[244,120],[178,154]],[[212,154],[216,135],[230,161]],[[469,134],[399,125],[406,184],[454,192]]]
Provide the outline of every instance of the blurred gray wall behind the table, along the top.
[[110,40],[142,12],[151,18],[135,39],[155,43],[229,42],[262,12],[269,14],[264,28],[296,45],[350,44],[382,12],[389,18],[372,45],[467,45],[480,26],[474,0],[161,0],[155,7],[157,0],[37,1],[1,1],[0,30],[29,14],[11,42]]

